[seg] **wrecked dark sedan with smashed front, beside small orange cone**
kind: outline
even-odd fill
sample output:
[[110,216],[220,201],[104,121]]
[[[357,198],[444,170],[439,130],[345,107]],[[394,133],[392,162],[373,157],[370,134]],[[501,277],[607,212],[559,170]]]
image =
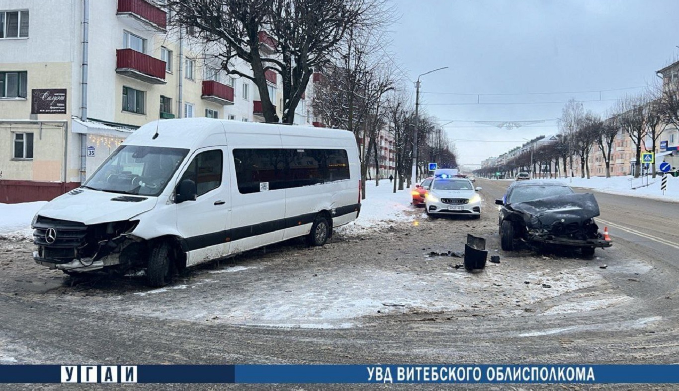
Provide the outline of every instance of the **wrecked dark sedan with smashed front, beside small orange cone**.
[[567,184],[549,180],[515,182],[495,203],[501,205],[500,244],[505,251],[523,242],[531,247],[579,248],[583,256],[591,257],[597,247],[612,245],[594,222],[599,215],[594,194],[575,193]]

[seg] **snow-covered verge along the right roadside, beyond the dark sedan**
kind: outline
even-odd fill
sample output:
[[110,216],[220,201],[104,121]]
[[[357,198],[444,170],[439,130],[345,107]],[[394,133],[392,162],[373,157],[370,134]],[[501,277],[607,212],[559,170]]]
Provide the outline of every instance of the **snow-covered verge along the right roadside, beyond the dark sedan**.
[[[679,178],[667,176],[667,190],[665,190],[664,195],[662,190],[660,190],[661,178],[661,176],[657,176],[654,180],[650,176],[644,178],[634,178],[632,176],[614,176],[611,178],[593,176],[589,179],[578,177],[555,180],[566,182],[572,187],[589,188],[598,192],[659,199],[662,201],[679,201]],[[513,180],[502,181],[512,182]],[[646,186],[646,183],[648,183],[648,186]]]

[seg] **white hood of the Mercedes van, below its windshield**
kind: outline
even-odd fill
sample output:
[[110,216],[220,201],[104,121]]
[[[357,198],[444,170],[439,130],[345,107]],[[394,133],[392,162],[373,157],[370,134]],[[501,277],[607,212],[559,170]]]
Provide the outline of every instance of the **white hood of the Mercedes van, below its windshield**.
[[38,214],[46,218],[90,225],[129,220],[139,213],[153,209],[158,201],[157,197],[148,196],[130,196],[142,199],[139,202],[112,201],[124,195],[79,188],[48,202]]

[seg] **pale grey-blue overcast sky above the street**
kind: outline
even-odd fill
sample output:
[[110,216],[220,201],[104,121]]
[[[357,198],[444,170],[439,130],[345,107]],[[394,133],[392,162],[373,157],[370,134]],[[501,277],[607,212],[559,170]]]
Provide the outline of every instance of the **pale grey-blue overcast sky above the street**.
[[[655,71],[678,58],[676,0],[397,0],[390,52],[403,73],[422,77],[420,108],[456,141],[458,163],[481,163],[557,133],[570,98],[602,115],[624,94],[636,94]],[[413,87],[414,89],[414,87]],[[624,89],[619,91],[602,91]],[[570,91],[591,93],[517,94]],[[446,93],[446,94],[431,94]],[[598,101],[599,99],[602,101]],[[610,101],[609,101],[610,100]],[[476,104],[481,102],[481,104]],[[541,102],[540,104],[509,104]],[[546,103],[559,102],[559,103]],[[472,103],[472,104],[462,104]],[[491,104],[494,103],[494,104]],[[500,104],[498,104],[500,103]],[[474,121],[543,123],[498,129]],[[475,140],[475,141],[462,141]]]

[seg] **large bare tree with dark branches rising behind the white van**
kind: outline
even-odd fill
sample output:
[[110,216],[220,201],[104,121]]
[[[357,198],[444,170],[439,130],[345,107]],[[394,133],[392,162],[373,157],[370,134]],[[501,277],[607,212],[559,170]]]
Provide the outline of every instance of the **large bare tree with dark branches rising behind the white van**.
[[[164,0],[171,24],[191,28],[230,75],[255,83],[265,121],[278,122],[266,73],[282,78],[282,122],[295,109],[315,68],[351,28],[367,28],[385,16],[384,0]],[[267,51],[267,54],[265,54]],[[252,75],[234,67],[249,64]]]

